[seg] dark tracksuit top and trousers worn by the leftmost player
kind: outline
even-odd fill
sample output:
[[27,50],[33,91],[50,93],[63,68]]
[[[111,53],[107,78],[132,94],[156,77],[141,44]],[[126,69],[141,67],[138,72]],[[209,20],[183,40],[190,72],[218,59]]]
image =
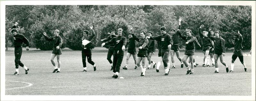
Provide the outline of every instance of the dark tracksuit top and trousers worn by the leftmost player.
[[[16,26],[13,26],[12,29],[13,28],[16,28]],[[28,47],[29,46],[28,39],[24,35],[19,33],[17,33],[17,35],[13,35],[13,38],[14,38],[13,45],[14,45],[14,56],[15,56],[15,59],[14,59],[15,68],[19,68],[19,65],[23,67],[24,64],[20,61],[21,54],[22,54],[21,46],[22,46],[22,43],[25,43],[26,46]]]

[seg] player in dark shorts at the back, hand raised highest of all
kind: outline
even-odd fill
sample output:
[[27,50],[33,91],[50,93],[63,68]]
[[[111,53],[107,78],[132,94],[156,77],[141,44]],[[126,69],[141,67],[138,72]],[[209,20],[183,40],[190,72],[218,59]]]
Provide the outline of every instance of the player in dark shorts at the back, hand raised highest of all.
[[[179,19],[179,29],[181,20],[182,18]],[[178,32],[175,32],[175,29],[171,29],[171,36],[173,40],[173,45],[171,47],[172,68],[175,68],[174,52],[176,53],[177,58],[180,60],[181,68],[183,68],[183,62],[182,59],[180,58],[179,34]]]

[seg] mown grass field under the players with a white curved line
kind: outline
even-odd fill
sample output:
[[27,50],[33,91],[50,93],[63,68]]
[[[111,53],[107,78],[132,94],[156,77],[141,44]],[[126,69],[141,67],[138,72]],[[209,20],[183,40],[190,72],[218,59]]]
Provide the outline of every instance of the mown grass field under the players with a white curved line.
[[[137,49],[138,50],[138,49]],[[5,95],[181,95],[181,96],[252,96],[252,64],[251,57],[244,57],[248,72],[237,58],[234,73],[226,73],[225,67],[219,63],[220,73],[213,73],[215,67],[202,67],[203,54],[195,53],[196,62],[194,74],[186,75],[187,69],[180,68],[180,62],[175,55],[176,68],[168,76],[164,76],[163,64],[160,72],[156,69],[147,69],[145,77],[140,76],[140,68],[134,70],[134,60],[129,60],[128,70],[122,69],[126,61],[126,52],[121,65],[119,77],[111,78],[110,64],[107,61],[107,49],[97,47],[92,51],[93,66],[87,61],[87,72],[82,72],[81,51],[63,49],[61,55],[61,73],[52,73],[50,61],[51,51],[41,51],[23,48],[22,63],[30,68],[26,75],[20,67],[20,75],[15,72],[14,49],[5,51]],[[156,53],[158,51],[156,50]],[[245,51],[244,53],[248,53]],[[183,57],[181,50],[180,56]],[[224,61],[231,64],[232,52],[226,53]],[[196,57],[198,56],[198,57]],[[113,58],[113,57],[112,57]],[[152,60],[156,60],[153,55]],[[170,56],[171,58],[171,56]],[[55,58],[57,63],[57,59]],[[147,62],[146,62],[147,63]],[[148,66],[148,63],[147,63]],[[26,87],[29,84],[32,86]],[[24,87],[24,88],[20,88]],[[17,89],[15,89],[17,88]]]

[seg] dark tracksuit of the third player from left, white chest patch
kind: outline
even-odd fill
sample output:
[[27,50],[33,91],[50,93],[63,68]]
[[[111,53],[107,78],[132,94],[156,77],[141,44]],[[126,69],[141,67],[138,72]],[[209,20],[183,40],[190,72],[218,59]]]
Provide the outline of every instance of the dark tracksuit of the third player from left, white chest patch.
[[[94,30],[92,29],[92,35],[88,35],[86,37],[82,37],[81,38],[81,42],[83,40],[88,40],[88,41],[91,41],[92,38],[95,36],[95,32]],[[91,65],[94,65],[95,63],[92,61],[92,51],[91,51],[91,45],[92,45],[92,42],[86,44],[86,45],[83,45],[82,44],[82,62],[83,62],[83,67],[86,67],[86,57],[87,57],[87,61],[88,63],[90,63]],[[86,48],[86,49],[84,49]]]

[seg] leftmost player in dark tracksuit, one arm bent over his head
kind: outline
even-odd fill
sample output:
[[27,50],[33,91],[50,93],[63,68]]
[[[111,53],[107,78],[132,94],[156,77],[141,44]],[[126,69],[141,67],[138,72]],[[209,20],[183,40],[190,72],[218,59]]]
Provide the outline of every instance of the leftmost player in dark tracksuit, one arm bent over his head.
[[26,50],[28,50],[28,46],[29,46],[29,42],[28,42],[28,39],[22,35],[22,34],[19,34],[18,30],[16,29],[16,26],[17,26],[17,22],[15,23],[15,25],[12,27],[12,30],[11,30],[11,33],[13,35],[13,38],[14,38],[14,42],[13,42],[13,45],[14,45],[14,56],[15,56],[15,73],[13,75],[19,75],[19,65],[25,69],[25,74],[28,74],[28,70],[29,68],[26,67],[21,61],[20,61],[20,58],[21,58],[21,54],[22,54],[22,43],[25,43],[26,44]]

